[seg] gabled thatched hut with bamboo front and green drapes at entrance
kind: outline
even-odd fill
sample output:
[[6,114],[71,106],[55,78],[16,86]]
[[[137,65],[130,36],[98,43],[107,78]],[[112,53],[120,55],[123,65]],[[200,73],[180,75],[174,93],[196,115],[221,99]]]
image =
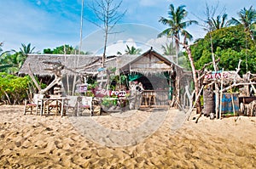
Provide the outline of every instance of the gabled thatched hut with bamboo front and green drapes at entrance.
[[172,56],[163,56],[152,48],[144,54],[121,55],[107,59],[105,65],[116,68],[115,74],[128,76],[131,82],[143,84],[142,106],[165,106],[177,100],[184,106],[190,105],[189,88],[191,72],[172,62]]

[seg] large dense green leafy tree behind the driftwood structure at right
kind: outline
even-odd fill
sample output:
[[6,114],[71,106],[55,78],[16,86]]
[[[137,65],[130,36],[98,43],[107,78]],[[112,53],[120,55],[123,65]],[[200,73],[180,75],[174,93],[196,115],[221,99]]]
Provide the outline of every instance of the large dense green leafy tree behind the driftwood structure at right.
[[[212,49],[210,36],[212,36]],[[220,59],[219,69],[236,70],[241,59],[241,74],[247,71],[247,67],[252,73],[256,72],[255,42],[244,31],[242,25],[209,32],[204,39],[196,42],[191,47],[191,54],[197,70],[201,70],[205,64],[212,62],[212,51],[215,58]],[[212,70],[212,67],[210,66],[209,69]]]

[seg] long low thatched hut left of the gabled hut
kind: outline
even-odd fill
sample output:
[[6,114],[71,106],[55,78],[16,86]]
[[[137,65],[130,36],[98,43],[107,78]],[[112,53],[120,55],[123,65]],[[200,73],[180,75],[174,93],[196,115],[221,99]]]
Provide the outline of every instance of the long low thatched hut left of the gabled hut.
[[[99,62],[100,59],[100,56],[78,54],[28,54],[19,75],[25,76],[31,71],[33,76],[38,77],[39,82],[49,85],[55,78],[52,68],[55,64],[61,64],[64,65],[64,69],[61,70],[63,87],[65,91],[72,91],[75,86],[74,77],[76,76],[78,81],[79,72],[84,70],[84,67]],[[53,89],[50,93],[53,93]]]

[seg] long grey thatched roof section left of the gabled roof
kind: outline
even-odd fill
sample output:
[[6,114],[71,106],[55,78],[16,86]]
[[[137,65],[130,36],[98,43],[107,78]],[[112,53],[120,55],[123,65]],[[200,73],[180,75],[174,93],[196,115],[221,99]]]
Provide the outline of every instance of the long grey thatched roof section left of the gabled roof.
[[61,65],[65,65],[65,69],[61,71],[62,74],[73,75],[74,72],[71,70],[79,71],[82,67],[91,63],[100,63],[101,58],[100,56],[78,54],[28,54],[19,74],[28,74],[28,65],[30,65],[32,74],[34,75],[53,76],[54,73],[49,70],[52,65],[45,64],[45,62],[59,62]]

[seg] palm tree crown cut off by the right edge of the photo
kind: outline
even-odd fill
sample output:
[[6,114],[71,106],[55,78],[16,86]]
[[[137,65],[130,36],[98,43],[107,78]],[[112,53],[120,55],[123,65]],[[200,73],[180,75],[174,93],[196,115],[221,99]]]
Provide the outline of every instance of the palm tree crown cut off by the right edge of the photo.
[[253,39],[253,34],[255,31],[254,27],[256,24],[256,10],[251,6],[249,9],[243,8],[238,13],[239,19],[236,20],[232,17],[232,19],[229,21],[230,25],[243,25],[245,28],[245,31],[250,34],[250,36]]

